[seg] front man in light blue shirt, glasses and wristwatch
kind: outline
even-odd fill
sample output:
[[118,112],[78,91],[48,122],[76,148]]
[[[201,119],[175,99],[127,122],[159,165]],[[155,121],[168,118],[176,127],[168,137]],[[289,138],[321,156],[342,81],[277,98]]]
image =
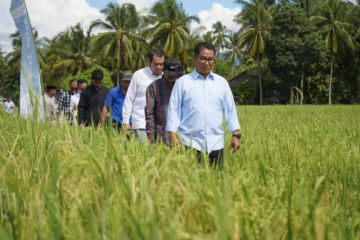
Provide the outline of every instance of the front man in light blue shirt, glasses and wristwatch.
[[212,72],[215,48],[200,42],[194,48],[195,70],[178,79],[172,90],[166,131],[170,145],[179,143],[177,132],[186,147],[209,156],[211,166],[222,166],[224,159],[225,118],[232,132],[233,151],[240,148],[240,124],[234,98],[226,79]]

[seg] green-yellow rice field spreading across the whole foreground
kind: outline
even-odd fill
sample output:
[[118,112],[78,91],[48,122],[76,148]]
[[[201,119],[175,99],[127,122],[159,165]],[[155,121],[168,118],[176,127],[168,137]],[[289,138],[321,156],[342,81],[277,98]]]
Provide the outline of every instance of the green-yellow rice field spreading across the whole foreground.
[[241,149],[215,170],[0,112],[0,239],[360,239],[360,106],[238,113]]

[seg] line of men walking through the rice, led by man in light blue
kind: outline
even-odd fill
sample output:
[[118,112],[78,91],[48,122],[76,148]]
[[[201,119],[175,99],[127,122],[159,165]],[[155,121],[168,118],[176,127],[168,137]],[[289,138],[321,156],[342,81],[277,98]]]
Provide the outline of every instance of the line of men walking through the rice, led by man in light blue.
[[[223,120],[232,133],[231,148],[240,148],[240,124],[234,98],[226,79],[212,71],[215,48],[200,42],[194,48],[194,70],[184,75],[184,65],[165,59],[162,50],[149,53],[149,65],[135,73],[112,75],[115,87],[102,85],[103,72],[94,70],[91,85],[70,82],[57,106],[72,122],[72,98],[77,96],[79,126],[109,126],[131,130],[140,141],[162,142],[171,147],[180,142],[197,153],[204,152],[210,165],[224,161]],[[81,93],[78,91],[81,89]],[[75,102],[75,101],[74,101]]]

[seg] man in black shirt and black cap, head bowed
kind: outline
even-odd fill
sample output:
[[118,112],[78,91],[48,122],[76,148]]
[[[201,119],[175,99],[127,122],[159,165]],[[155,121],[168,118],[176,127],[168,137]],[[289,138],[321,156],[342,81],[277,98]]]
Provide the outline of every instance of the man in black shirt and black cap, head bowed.
[[104,74],[101,70],[92,71],[92,84],[81,92],[78,105],[78,123],[80,127],[100,123],[100,114],[104,106],[108,88],[101,85]]

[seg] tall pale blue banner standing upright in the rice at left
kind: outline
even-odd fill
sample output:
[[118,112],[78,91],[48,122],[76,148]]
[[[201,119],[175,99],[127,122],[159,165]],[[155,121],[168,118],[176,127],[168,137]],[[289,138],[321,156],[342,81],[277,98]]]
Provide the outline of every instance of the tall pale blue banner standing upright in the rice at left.
[[39,61],[24,0],[11,0],[10,13],[21,34],[20,116],[44,120]]

